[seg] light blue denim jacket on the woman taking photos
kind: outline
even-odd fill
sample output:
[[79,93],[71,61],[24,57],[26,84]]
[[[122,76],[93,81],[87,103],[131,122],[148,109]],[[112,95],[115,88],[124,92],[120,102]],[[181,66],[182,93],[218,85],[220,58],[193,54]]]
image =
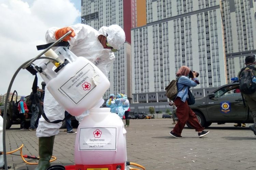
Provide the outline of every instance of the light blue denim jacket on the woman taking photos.
[[188,88],[197,86],[197,83],[193,80],[197,81],[199,84],[199,80],[197,78],[194,78],[191,80],[184,75],[182,75],[177,82],[177,88],[178,88],[177,97],[180,97],[184,103],[187,99]]

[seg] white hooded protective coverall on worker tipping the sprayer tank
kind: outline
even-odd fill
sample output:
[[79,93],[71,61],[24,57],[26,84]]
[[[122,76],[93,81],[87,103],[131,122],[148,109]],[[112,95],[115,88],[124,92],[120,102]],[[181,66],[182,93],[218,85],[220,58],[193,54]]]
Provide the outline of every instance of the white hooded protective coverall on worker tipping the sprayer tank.
[[[119,49],[121,45],[125,42],[125,33],[122,28],[117,25],[111,25],[109,27],[101,27],[99,31],[85,24],[75,24],[70,26],[74,32],[75,37],[69,40],[69,49],[76,56],[83,56],[89,61],[94,63],[106,76],[108,76],[111,64],[114,62],[115,55],[111,49],[104,49],[98,36],[100,34],[107,37],[108,43],[114,49]],[[53,27],[47,30],[45,38],[47,43],[56,41],[55,32],[59,28]],[[108,36],[107,36],[108,35]],[[46,85],[47,87],[47,85]],[[100,107],[103,103],[100,103]],[[50,121],[64,119],[65,110],[59,105],[59,103],[54,99],[54,97],[49,93],[47,88],[45,88],[44,96],[44,112]],[[82,115],[77,116],[76,119],[81,122],[83,117],[88,115],[88,111],[84,112]],[[41,116],[39,119],[39,124],[37,128],[37,137],[48,137],[57,135],[59,133],[60,123],[48,123]]]

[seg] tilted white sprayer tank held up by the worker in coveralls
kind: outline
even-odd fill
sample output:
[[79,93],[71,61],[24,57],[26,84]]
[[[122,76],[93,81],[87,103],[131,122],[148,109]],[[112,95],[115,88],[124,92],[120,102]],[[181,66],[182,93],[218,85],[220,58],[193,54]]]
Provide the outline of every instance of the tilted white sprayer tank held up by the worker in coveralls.
[[110,87],[100,69],[85,57],[77,57],[66,47],[48,50],[35,68],[58,103],[73,116],[93,108]]

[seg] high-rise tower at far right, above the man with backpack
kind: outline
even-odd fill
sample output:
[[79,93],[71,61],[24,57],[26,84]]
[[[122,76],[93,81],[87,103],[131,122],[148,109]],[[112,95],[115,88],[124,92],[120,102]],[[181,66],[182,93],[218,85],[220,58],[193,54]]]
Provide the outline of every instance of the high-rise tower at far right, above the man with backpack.
[[228,81],[244,67],[244,57],[256,53],[255,5],[250,0],[221,2]]

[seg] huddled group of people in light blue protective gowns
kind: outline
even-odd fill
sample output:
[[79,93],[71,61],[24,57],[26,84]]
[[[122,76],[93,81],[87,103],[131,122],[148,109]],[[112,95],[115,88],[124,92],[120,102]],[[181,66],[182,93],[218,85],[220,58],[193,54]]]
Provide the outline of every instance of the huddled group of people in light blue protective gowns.
[[111,113],[116,113],[121,119],[125,115],[125,127],[129,127],[130,120],[128,118],[130,111],[130,103],[127,95],[124,94],[110,94],[109,99],[106,101],[106,106],[110,107]]

